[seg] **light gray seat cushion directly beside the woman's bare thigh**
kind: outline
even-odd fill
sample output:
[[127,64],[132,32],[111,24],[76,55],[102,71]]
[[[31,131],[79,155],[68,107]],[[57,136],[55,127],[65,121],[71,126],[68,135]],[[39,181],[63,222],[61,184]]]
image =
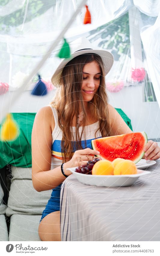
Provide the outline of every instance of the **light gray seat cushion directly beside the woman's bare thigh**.
[[41,241],[38,235],[40,219],[40,215],[12,215],[8,241]]

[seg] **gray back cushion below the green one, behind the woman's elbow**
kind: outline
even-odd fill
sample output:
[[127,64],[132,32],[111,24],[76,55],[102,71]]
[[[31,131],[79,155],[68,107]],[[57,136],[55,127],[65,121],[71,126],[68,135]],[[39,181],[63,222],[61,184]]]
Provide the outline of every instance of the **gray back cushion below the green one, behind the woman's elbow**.
[[8,198],[6,215],[41,215],[50,199],[52,189],[38,192],[32,184],[32,168],[11,166],[13,179]]

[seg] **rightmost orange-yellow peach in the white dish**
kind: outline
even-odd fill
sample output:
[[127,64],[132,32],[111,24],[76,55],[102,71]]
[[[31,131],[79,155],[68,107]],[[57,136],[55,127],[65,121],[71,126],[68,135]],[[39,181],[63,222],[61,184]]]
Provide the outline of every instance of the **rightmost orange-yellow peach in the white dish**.
[[114,168],[114,175],[136,174],[137,167],[131,160],[120,161]]

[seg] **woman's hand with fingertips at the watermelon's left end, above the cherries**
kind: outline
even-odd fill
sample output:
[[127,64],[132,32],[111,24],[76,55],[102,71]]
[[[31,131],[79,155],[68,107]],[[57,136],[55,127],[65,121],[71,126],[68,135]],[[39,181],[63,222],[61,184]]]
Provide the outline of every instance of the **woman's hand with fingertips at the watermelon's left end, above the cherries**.
[[63,165],[65,174],[66,175],[72,174],[71,171],[66,170],[66,168],[85,165],[89,160],[93,160],[94,158],[96,158],[97,156],[95,155],[98,155],[98,154],[99,154],[99,151],[93,150],[90,148],[76,150],[71,160],[69,160]]

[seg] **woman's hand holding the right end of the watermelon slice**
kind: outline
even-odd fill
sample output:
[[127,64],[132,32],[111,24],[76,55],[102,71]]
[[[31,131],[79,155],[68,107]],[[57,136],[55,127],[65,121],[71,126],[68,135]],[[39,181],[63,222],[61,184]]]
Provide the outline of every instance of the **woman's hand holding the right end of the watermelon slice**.
[[148,141],[143,150],[145,151],[145,160],[155,160],[160,157],[160,147],[157,142]]

